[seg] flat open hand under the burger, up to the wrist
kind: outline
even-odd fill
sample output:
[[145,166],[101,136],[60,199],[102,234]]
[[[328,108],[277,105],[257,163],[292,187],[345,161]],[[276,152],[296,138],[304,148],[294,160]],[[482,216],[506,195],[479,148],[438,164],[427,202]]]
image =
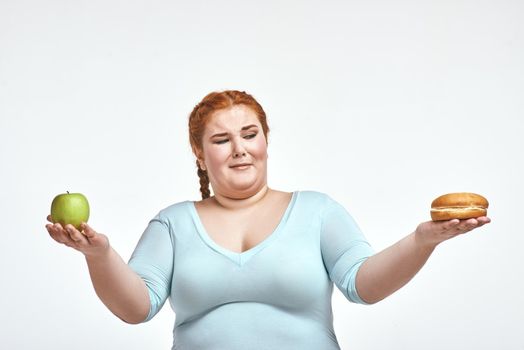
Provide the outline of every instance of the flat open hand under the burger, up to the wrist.
[[476,219],[427,221],[418,225],[415,236],[423,246],[435,247],[450,238],[464,234],[491,222],[487,216]]

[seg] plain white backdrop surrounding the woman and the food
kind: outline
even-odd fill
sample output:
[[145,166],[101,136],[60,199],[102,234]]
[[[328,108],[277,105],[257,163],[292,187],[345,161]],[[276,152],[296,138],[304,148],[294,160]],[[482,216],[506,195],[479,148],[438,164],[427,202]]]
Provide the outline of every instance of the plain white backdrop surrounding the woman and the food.
[[335,288],[342,349],[524,349],[524,2],[2,0],[3,349],[170,348],[169,305],[113,316],[46,216],[84,193],[127,261],[160,209],[199,199],[187,118],[224,89],[266,110],[269,186],[329,194],[376,250],[440,194],[490,201],[386,300]]

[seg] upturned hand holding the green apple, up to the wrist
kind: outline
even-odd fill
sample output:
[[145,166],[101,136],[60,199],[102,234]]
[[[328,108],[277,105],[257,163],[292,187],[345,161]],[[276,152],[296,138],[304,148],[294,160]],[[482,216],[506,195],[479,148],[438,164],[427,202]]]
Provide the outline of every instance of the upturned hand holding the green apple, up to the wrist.
[[86,257],[104,255],[110,249],[107,236],[97,233],[87,223],[82,223],[79,231],[71,224],[65,227],[59,223],[53,224],[51,215],[47,217],[47,221],[50,222],[46,225],[47,232],[55,241],[78,250]]

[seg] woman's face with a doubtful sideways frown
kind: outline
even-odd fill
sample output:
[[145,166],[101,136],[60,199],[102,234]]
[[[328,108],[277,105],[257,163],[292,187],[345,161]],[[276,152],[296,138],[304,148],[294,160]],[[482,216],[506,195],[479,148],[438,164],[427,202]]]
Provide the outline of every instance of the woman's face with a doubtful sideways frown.
[[200,165],[215,194],[246,198],[266,186],[267,142],[249,107],[216,111],[207,122],[202,145]]

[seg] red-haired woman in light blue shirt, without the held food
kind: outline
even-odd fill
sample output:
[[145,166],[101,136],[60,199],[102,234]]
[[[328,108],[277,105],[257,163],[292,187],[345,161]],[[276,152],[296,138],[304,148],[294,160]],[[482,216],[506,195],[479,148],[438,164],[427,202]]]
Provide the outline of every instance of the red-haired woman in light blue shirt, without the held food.
[[374,254],[328,195],[268,187],[268,132],[245,92],[214,92],[195,106],[189,133],[202,200],[161,210],[128,264],[85,223],[47,230],[85,255],[96,293],[125,322],[150,320],[170,297],[173,349],[316,350],[340,349],[333,284],[352,302],[376,303],[439,243],[490,222],[424,222]]

